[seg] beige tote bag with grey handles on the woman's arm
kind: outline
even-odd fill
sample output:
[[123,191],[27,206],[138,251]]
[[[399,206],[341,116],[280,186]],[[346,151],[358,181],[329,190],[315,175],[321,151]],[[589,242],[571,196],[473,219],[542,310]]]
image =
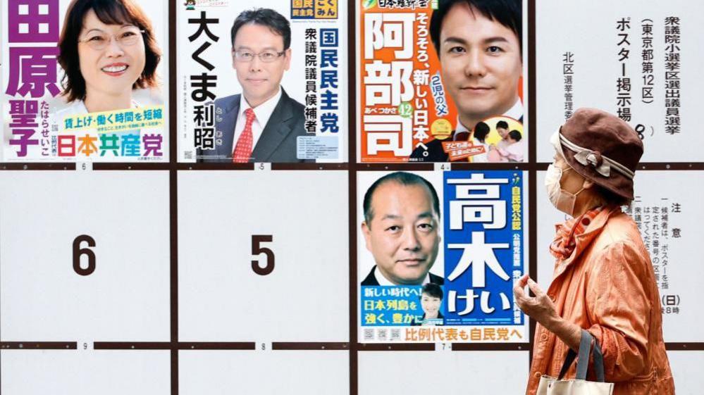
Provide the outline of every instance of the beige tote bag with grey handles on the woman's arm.
[[[586,330],[582,330],[579,341],[579,356],[577,356],[577,374],[575,380],[562,380],[570,365],[574,362],[576,353],[570,349],[567,351],[567,358],[564,358],[560,376],[557,378],[543,375],[538,383],[536,395],[612,395],[614,384],[604,382],[604,356],[601,353],[599,344],[594,341],[594,348],[591,344],[594,338]],[[594,369],[596,370],[597,382],[586,380],[587,367],[589,365],[589,354],[594,357]]]

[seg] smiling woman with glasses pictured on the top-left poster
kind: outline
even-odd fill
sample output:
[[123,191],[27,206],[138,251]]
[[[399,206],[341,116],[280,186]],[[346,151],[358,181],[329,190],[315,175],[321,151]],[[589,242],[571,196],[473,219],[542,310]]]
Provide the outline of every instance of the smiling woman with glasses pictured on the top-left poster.
[[58,46],[70,106],[57,115],[137,108],[133,90],[157,86],[161,51],[152,23],[132,0],[74,0]]

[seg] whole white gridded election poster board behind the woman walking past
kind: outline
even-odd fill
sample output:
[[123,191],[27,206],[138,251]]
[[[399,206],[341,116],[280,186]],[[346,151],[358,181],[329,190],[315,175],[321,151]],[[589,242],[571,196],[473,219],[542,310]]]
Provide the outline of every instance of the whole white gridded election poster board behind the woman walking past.
[[[455,96],[494,85],[453,84],[443,69],[432,39],[443,1],[132,2],[161,51],[158,83],[128,84],[135,106],[89,112],[85,98],[70,116],[57,51],[70,1],[0,2],[0,394],[523,393],[539,339],[512,286],[526,274],[543,289],[552,280],[548,246],[568,217],[545,193],[548,138],[579,106],[630,114],[642,135],[624,211],[650,252],[677,394],[700,394],[704,161],[700,137],[680,141],[697,131],[696,2],[522,1],[520,106],[467,131],[474,107]],[[248,159],[256,165],[211,165],[234,162],[245,129],[218,129],[237,118],[217,104],[242,104],[245,85],[263,85],[258,73],[284,56],[245,44],[234,53],[235,19],[254,8],[292,31],[275,91],[303,107],[287,119],[304,135]],[[453,18],[467,32],[482,21],[456,12],[440,37]],[[86,75],[134,71],[123,27],[103,27],[110,60]],[[445,35],[450,54],[479,55],[467,32]],[[103,47],[81,37],[76,48]],[[505,49],[494,44],[487,59]],[[249,56],[255,77],[246,68],[240,82],[235,56]],[[470,59],[455,78],[487,81],[488,65]],[[504,142],[500,122],[525,146]]]

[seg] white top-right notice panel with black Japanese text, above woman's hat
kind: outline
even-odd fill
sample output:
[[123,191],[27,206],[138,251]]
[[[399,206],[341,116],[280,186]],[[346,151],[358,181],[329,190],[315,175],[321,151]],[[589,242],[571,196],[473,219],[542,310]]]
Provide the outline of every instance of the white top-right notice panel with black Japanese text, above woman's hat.
[[[538,151],[580,107],[629,123],[643,162],[699,162],[704,13],[685,0],[536,2]],[[547,82],[547,83],[545,83]]]

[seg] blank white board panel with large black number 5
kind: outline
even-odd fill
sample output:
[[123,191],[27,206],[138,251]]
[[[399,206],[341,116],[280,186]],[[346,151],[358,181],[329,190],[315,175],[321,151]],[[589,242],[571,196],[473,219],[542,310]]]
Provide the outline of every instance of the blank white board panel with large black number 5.
[[181,172],[178,194],[181,341],[349,339],[346,172]]

